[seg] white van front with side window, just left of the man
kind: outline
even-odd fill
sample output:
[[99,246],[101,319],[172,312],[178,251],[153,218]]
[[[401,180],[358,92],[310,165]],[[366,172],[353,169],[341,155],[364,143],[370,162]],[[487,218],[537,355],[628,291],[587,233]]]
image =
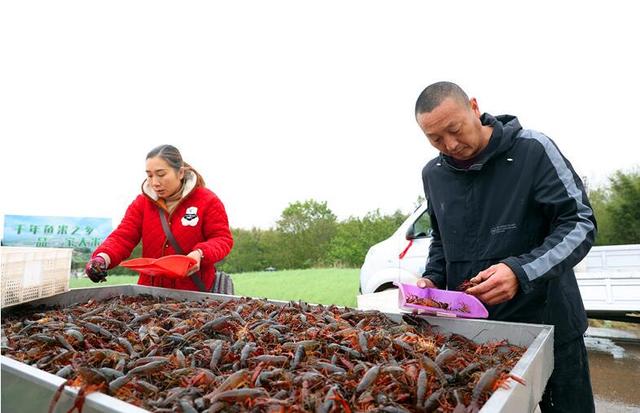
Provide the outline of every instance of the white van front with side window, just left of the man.
[[430,230],[424,202],[386,240],[369,249],[360,269],[360,292],[395,288],[393,282],[414,283],[424,272]]

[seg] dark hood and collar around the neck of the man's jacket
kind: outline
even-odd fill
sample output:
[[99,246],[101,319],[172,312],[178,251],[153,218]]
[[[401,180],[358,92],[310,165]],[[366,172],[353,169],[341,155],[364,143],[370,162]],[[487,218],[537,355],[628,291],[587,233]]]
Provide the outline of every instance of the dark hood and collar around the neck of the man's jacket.
[[[475,160],[473,165],[469,167],[469,171],[479,171],[489,160],[508,151],[513,145],[514,139],[522,130],[522,126],[520,125],[518,118],[513,115],[492,116],[488,113],[483,113],[480,117],[480,121],[483,125],[493,127],[491,141],[489,142],[491,148]],[[494,139],[496,139],[496,142],[493,142]],[[450,168],[457,170],[448,156],[441,153],[440,160],[444,160]]]

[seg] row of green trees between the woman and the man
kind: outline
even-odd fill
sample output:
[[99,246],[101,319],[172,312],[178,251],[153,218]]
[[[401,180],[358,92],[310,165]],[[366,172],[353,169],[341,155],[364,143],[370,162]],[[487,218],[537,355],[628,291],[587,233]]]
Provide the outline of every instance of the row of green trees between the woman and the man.
[[352,267],[362,265],[369,248],[388,238],[407,219],[379,210],[338,221],[326,202],[290,203],[275,228],[232,228],[234,247],[217,267],[230,273],[273,268]]

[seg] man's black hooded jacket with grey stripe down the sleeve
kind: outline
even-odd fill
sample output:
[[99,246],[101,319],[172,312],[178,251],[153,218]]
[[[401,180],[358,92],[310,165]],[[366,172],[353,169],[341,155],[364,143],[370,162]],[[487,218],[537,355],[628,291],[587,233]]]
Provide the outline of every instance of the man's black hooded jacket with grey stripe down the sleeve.
[[580,178],[542,133],[510,115],[484,114],[493,133],[480,159],[457,169],[447,156],[422,171],[433,238],[424,277],[456,289],[503,262],[520,288],[489,306],[495,320],[553,324],[561,344],[587,318],[573,267],[593,244],[596,221]]

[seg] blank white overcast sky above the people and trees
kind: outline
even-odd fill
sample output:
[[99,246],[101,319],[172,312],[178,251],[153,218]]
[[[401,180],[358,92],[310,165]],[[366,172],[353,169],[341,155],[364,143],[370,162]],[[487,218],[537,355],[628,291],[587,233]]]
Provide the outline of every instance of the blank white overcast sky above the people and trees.
[[[112,217],[170,143],[234,227],[296,200],[409,212],[450,80],[602,184],[640,164],[633,2],[15,1],[0,8],[0,215]],[[1,217],[0,217],[1,220]]]

